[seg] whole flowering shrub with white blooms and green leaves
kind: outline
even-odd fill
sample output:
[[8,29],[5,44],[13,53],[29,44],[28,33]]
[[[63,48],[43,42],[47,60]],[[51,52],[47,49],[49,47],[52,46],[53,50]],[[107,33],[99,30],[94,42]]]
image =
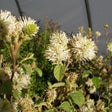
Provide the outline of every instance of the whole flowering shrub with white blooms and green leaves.
[[0,110],[112,111],[108,25],[104,26],[106,54],[98,56],[100,32],[93,36],[90,28],[85,33],[80,27],[77,34],[69,36],[53,21],[45,22],[38,32],[35,20],[16,19],[9,11],[1,11]]

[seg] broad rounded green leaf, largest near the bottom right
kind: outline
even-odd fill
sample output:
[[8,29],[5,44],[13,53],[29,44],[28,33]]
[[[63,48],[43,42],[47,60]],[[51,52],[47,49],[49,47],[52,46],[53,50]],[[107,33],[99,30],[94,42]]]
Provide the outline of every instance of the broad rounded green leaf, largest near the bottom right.
[[75,104],[77,104],[79,107],[84,103],[85,98],[84,95],[82,94],[82,91],[73,91],[70,94],[72,100],[74,101]]

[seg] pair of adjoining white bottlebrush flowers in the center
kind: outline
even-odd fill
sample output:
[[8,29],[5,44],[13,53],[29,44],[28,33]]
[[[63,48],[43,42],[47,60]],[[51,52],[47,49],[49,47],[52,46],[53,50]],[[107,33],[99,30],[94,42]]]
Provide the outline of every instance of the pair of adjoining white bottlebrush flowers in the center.
[[[70,43],[71,48],[67,47],[68,43]],[[92,60],[96,56],[96,48],[94,41],[83,37],[81,33],[68,39],[64,32],[56,32],[50,38],[50,45],[45,56],[54,64],[70,59],[71,55],[79,61],[86,61]]]

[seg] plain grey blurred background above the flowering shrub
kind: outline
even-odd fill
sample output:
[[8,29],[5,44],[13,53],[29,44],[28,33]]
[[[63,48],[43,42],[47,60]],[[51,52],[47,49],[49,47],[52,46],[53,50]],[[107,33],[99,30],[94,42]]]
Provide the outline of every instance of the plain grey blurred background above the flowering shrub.
[[27,16],[44,24],[48,17],[57,21],[60,29],[67,33],[78,32],[84,26],[101,32],[99,51],[104,52],[104,25],[108,24],[109,36],[112,36],[112,0],[0,0],[0,9],[9,10],[16,17]]

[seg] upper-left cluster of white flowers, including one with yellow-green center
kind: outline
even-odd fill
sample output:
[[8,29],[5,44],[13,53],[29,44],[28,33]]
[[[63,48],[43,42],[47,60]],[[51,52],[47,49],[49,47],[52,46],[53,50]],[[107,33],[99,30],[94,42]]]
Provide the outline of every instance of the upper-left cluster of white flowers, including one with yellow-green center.
[[31,36],[35,36],[39,27],[35,24],[35,20],[22,17],[18,20],[11,15],[9,11],[0,12],[0,39],[5,39],[11,42],[12,38],[15,41],[19,39],[27,40]]

